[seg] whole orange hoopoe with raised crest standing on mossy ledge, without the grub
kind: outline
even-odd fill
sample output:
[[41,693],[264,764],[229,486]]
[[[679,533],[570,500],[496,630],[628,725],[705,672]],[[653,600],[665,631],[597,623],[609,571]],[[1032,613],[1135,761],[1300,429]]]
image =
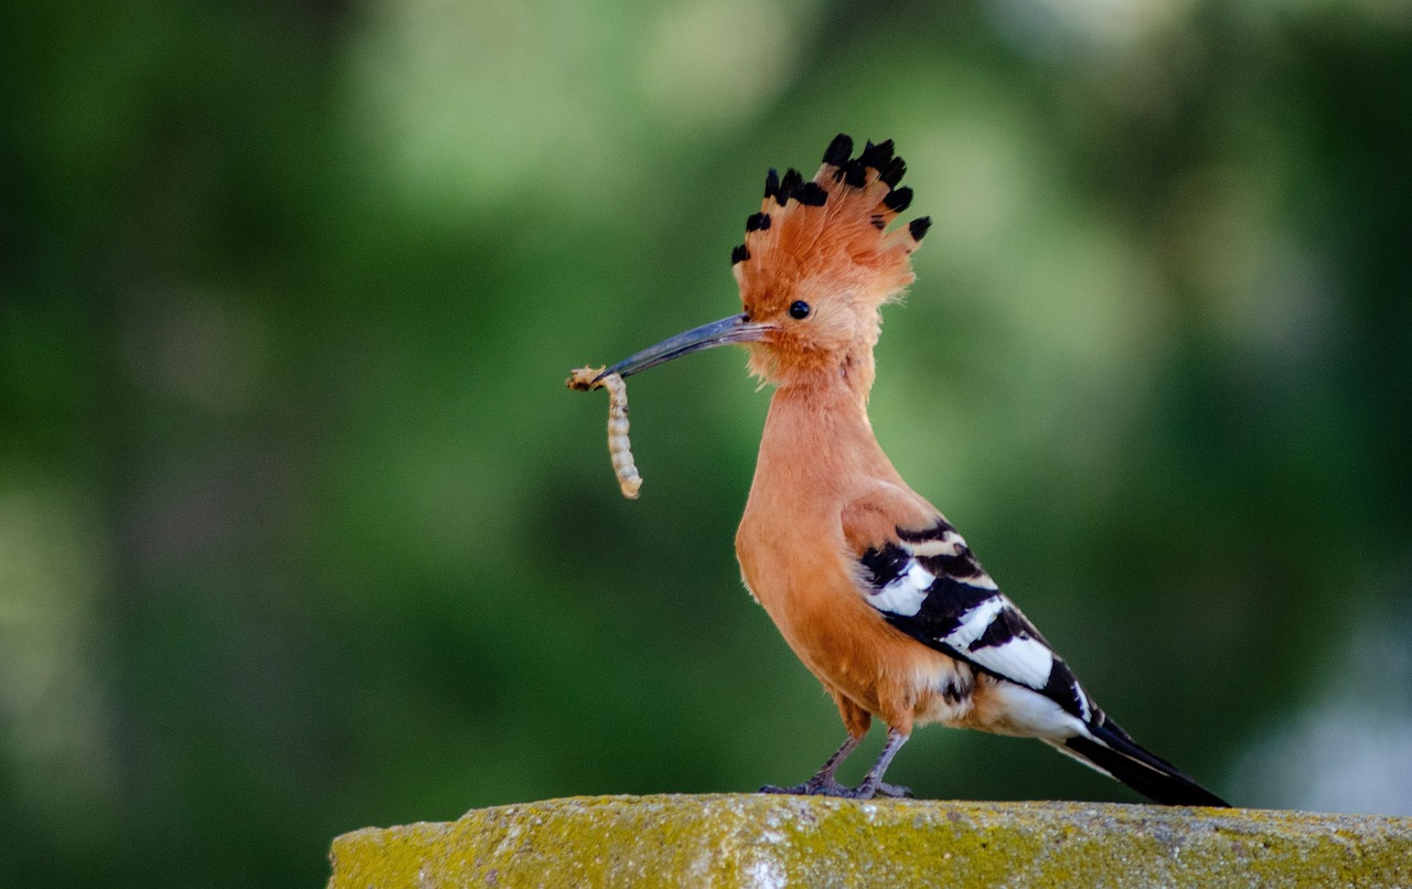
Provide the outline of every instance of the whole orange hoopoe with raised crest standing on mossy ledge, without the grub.
[[[891,140],[839,134],[812,179],[765,176],[760,210],[731,251],[741,310],[623,361],[628,377],[705,349],[741,344],[774,388],[736,533],[741,577],[823,684],[846,739],[816,775],[764,792],[911,796],[885,772],[912,731],[939,722],[1038,738],[1172,806],[1228,806],[1139,746],[1001,593],[964,538],[907,485],[868,419],[881,308],[914,282],[929,217],[912,202]],[[837,769],[874,720],[887,741],[861,783]]]

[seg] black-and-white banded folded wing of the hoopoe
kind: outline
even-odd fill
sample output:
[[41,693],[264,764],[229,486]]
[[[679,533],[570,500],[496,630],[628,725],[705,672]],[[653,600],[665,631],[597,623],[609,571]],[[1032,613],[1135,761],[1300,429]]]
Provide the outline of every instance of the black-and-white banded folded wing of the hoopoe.
[[902,632],[1090,722],[1099,710],[1063,659],[976,562],[946,519],[858,555],[870,605]]

